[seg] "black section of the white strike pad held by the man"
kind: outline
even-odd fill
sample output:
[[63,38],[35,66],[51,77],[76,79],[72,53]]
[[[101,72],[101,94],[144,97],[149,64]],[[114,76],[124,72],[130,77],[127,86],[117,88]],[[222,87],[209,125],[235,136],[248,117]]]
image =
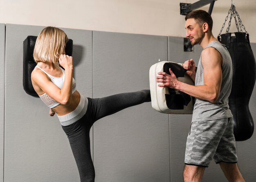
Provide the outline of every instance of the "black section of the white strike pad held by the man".
[[[165,63],[164,64],[164,72],[168,75],[171,75],[169,72],[169,68],[171,68],[174,75],[178,77],[184,77],[186,70],[180,65],[176,63]],[[182,110],[184,109],[184,105],[188,105],[191,101],[191,97],[184,92],[179,91],[180,94],[176,94],[176,91],[172,88],[168,88],[170,94],[165,94],[166,105],[171,110]]]

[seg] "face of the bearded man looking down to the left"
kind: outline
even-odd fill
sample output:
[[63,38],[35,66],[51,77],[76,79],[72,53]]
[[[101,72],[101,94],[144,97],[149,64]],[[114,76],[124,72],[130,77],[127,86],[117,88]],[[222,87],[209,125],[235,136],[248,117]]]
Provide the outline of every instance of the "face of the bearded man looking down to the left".
[[189,38],[191,45],[200,44],[204,38],[202,26],[200,26],[194,18],[189,18],[185,23],[186,37]]

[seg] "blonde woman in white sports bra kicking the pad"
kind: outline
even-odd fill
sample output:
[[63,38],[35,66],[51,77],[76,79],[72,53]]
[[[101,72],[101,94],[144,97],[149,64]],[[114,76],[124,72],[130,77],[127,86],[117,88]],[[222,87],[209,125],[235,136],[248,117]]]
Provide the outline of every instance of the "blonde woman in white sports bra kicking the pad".
[[[42,101],[56,113],[79,169],[81,182],[94,182],[95,172],[90,153],[90,128],[104,116],[127,107],[150,101],[150,91],[122,93],[91,99],[79,94],[72,77],[73,58],[65,55],[67,35],[58,28],[46,27],[36,39],[31,73],[33,87]],[[59,67],[59,64],[65,71]],[[64,79],[65,78],[65,79]]]

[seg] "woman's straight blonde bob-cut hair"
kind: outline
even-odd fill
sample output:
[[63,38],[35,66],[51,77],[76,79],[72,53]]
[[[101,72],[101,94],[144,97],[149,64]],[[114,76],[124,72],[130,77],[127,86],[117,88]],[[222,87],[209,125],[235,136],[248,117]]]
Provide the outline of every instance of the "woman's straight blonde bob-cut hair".
[[47,26],[38,35],[34,48],[34,59],[38,62],[56,63],[65,54],[67,35],[61,29]]

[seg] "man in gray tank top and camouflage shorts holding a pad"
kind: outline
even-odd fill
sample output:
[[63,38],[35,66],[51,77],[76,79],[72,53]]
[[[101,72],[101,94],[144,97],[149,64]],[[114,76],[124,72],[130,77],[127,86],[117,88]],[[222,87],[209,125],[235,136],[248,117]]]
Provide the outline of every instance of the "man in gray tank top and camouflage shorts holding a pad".
[[203,48],[196,73],[193,59],[183,64],[195,86],[177,81],[171,69],[171,75],[159,72],[157,76],[157,82],[162,83],[159,87],[180,90],[196,98],[186,143],[184,182],[200,182],[212,159],[220,164],[230,182],[244,182],[237,166],[233,115],[228,105],[231,57],[225,46],[213,37],[209,13],[192,11],[185,20],[186,37],[192,45],[199,44]]

